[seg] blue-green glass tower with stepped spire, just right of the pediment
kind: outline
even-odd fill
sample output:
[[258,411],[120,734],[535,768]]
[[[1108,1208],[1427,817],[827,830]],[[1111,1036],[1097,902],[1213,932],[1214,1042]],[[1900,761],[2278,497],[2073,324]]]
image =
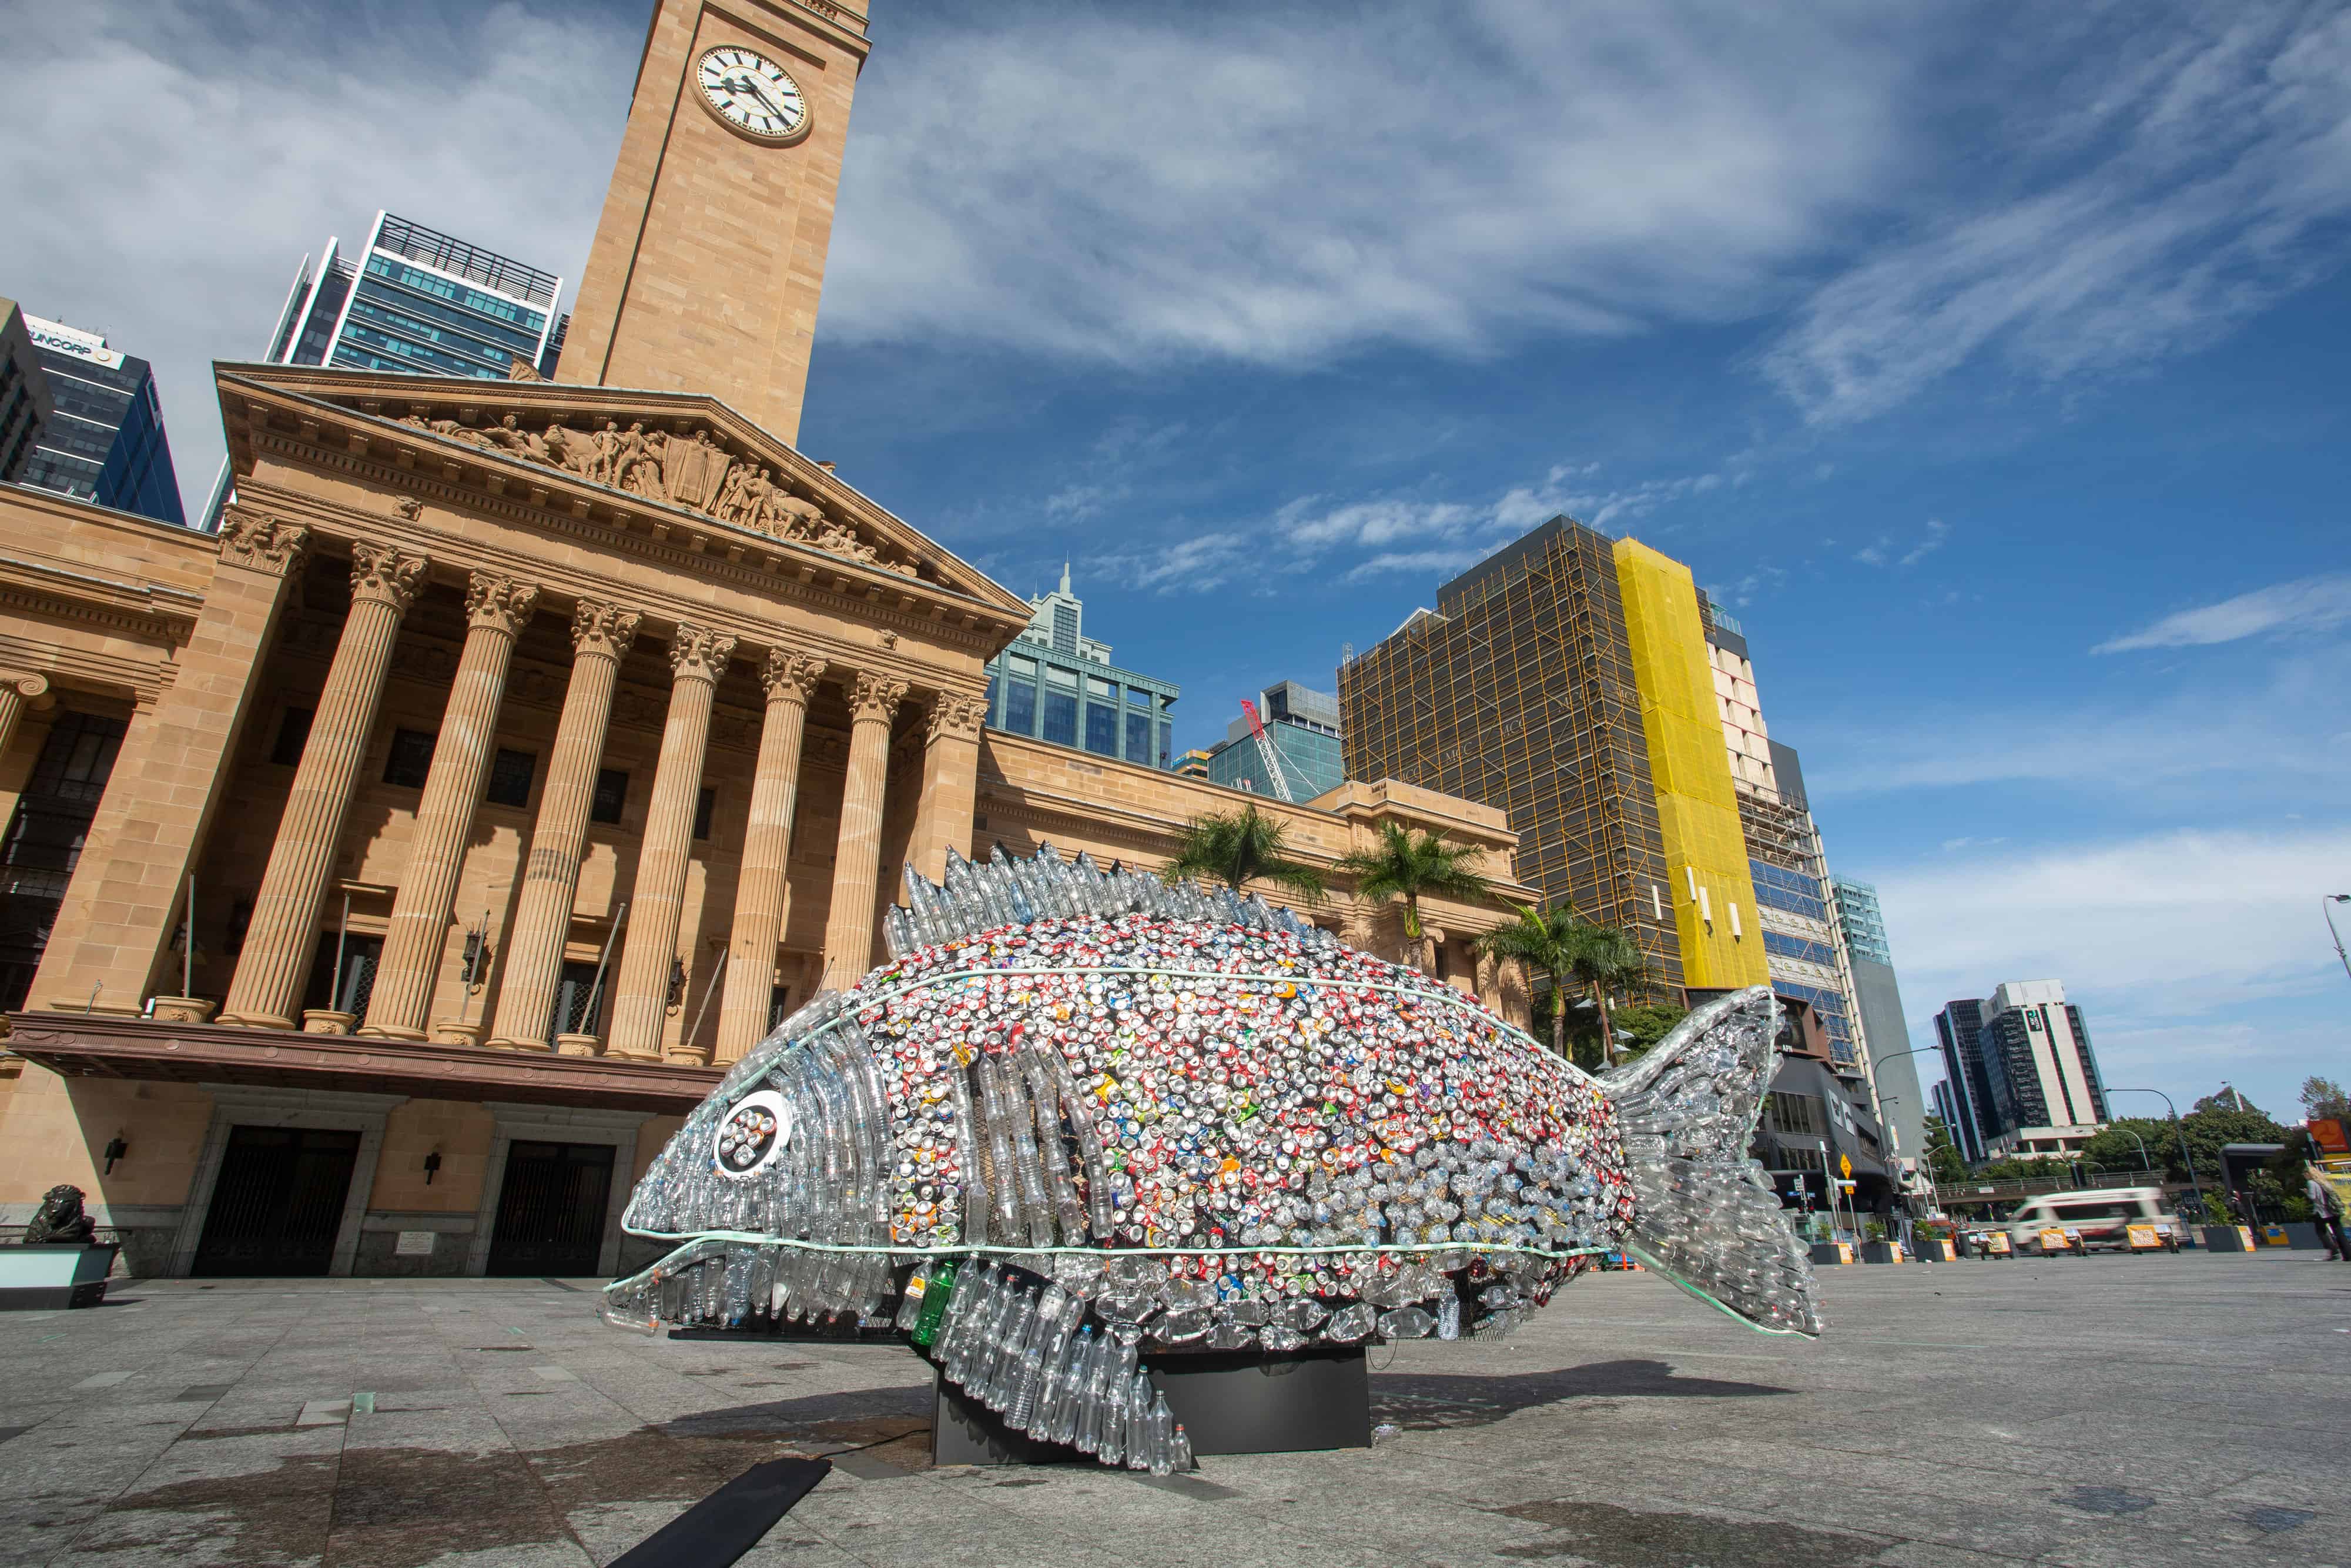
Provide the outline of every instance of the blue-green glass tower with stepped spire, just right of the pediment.
[[1060,585],[1030,599],[1027,628],[987,661],[987,726],[1096,757],[1168,769],[1183,686],[1110,663],[1086,637],[1086,602]]

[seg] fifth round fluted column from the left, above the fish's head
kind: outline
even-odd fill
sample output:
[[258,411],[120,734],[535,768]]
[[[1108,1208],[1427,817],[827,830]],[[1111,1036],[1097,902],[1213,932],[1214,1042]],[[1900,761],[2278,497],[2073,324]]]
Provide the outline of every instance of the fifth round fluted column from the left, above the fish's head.
[[719,1063],[743,1060],[766,1034],[776,940],[783,936],[783,875],[792,856],[792,806],[799,802],[799,736],[823,672],[823,658],[790,649],[769,651],[759,672],[766,684],[766,719],[759,724],[759,771],[750,785],[750,830],[743,835],[743,875],[736,882],[736,929],[726,943]]

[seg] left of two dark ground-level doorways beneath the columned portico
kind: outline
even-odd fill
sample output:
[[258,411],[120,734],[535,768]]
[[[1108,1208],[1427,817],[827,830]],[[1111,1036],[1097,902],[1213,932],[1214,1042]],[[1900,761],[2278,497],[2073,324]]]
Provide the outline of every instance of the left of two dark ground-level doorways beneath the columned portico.
[[357,1159],[357,1133],[228,1128],[193,1272],[324,1274]]

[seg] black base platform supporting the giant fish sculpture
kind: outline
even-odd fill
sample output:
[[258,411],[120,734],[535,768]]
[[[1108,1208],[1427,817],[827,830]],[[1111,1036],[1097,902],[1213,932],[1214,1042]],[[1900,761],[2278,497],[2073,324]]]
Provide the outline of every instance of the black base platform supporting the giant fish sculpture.
[[[1194,1455],[1371,1448],[1371,1375],[1361,1347],[1288,1356],[1206,1352],[1143,1363],[1192,1439]],[[1093,1455],[1039,1443],[936,1378],[933,1465],[1093,1465]]]

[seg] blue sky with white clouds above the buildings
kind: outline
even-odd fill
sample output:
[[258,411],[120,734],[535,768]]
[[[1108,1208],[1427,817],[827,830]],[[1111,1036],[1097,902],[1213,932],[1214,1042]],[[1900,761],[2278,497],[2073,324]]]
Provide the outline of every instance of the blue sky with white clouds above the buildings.
[[[0,0],[0,294],[155,362],[195,505],[207,362],[327,235],[390,207],[578,277],[647,14]],[[1566,510],[1744,623],[1916,1044],[2059,978],[2111,1086],[2351,1077],[2351,12],[872,38],[802,449],[1011,588],[1067,559],[1178,748]]]

